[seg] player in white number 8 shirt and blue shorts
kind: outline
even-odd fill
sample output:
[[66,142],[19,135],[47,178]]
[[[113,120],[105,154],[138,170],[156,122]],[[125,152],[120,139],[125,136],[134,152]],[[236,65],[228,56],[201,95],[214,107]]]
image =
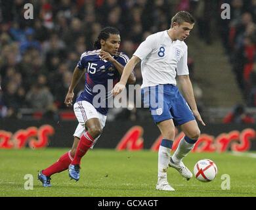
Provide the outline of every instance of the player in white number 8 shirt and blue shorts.
[[[149,106],[154,122],[158,125],[163,137],[158,152],[157,190],[174,191],[167,182],[168,167],[177,169],[187,180],[192,178],[192,173],[184,165],[182,159],[194,148],[196,140],[200,137],[196,119],[205,125],[194,99],[188,75],[188,47],[184,43],[194,27],[194,22],[190,13],[180,11],[173,16],[169,30],[148,36],[126,64],[119,83],[112,91],[116,96],[125,89],[129,75],[141,61],[143,79],[141,88],[144,105]],[[177,75],[184,98],[176,86]],[[156,101],[155,104],[152,98]],[[171,156],[175,125],[181,126],[185,136]]]

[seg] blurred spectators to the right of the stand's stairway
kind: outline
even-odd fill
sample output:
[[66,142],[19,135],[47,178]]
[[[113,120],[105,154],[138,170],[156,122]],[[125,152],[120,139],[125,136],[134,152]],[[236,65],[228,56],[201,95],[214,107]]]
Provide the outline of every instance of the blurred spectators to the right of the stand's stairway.
[[230,20],[220,19],[221,38],[245,104],[256,107],[256,1],[229,0]]

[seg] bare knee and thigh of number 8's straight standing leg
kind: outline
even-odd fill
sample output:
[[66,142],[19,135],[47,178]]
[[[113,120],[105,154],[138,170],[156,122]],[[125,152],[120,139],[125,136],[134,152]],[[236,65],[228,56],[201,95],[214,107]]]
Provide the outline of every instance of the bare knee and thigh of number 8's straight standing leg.
[[173,119],[167,119],[157,123],[163,138],[173,140],[175,137],[175,125]]

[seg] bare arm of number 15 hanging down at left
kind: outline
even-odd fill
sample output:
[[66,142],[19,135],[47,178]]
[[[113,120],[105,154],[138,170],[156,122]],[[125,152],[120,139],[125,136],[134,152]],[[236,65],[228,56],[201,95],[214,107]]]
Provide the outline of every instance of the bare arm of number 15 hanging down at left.
[[80,70],[79,68],[75,67],[75,70],[72,76],[72,81],[71,81],[70,87],[68,88],[68,93],[64,101],[66,106],[68,107],[72,106],[75,86],[77,85],[78,81],[81,79],[84,73],[85,73],[85,70]]

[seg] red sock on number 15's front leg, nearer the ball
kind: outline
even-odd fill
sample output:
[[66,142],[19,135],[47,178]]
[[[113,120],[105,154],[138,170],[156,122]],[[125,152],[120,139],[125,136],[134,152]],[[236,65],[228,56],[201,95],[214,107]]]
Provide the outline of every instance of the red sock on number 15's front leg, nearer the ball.
[[72,165],[80,165],[81,158],[86,154],[87,150],[92,146],[94,138],[86,132],[81,136],[79,140],[79,144],[77,146],[77,150],[75,152],[75,157],[72,161]]

